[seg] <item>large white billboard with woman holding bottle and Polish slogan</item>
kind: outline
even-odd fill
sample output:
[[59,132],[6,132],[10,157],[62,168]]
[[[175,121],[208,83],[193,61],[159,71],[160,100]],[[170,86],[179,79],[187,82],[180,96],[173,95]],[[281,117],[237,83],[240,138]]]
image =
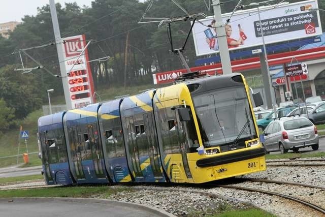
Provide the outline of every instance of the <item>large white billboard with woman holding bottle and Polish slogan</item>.
[[[282,3],[281,5],[259,7],[264,40],[266,44],[300,39],[322,34],[317,1]],[[223,23],[230,13],[223,14]],[[197,56],[218,52],[214,17],[194,23],[192,33]],[[211,25],[212,27],[207,27]],[[257,8],[239,10],[225,25],[230,50],[248,48],[263,44]]]

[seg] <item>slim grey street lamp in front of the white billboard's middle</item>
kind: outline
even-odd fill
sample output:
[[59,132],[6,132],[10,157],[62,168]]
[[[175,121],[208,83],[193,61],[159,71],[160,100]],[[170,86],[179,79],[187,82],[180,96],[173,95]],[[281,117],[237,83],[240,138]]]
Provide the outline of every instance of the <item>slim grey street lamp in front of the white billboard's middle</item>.
[[[274,89],[273,89],[273,86],[272,86],[270,69],[269,69],[268,55],[267,55],[265,40],[264,40],[264,31],[263,31],[263,27],[262,27],[261,15],[259,14],[259,5],[262,4],[262,3],[268,4],[268,2],[272,2],[272,1],[274,1],[274,0],[269,0],[269,1],[265,1],[265,2],[258,2],[258,3],[253,2],[253,3],[250,3],[248,6],[257,6],[259,28],[261,29],[261,36],[262,36],[262,42],[263,42],[263,50],[264,50],[264,57],[265,57],[265,63],[266,63],[266,70],[267,70],[267,74],[268,74],[268,85],[264,85],[264,87],[265,87],[266,92],[270,92],[274,115],[275,115],[275,118],[277,118]],[[270,4],[268,4],[268,5],[270,5]]]

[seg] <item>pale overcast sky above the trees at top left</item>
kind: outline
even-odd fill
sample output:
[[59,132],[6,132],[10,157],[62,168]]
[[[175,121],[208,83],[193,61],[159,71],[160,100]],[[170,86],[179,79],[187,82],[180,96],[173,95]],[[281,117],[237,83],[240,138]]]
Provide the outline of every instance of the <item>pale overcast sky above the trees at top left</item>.
[[[54,0],[55,3],[60,3],[64,7],[64,2],[76,2],[79,7],[83,5],[90,7],[91,1],[94,0]],[[141,1],[142,2],[142,1]],[[36,15],[37,7],[49,4],[49,0],[0,0],[0,23],[18,21],[24,15]]]

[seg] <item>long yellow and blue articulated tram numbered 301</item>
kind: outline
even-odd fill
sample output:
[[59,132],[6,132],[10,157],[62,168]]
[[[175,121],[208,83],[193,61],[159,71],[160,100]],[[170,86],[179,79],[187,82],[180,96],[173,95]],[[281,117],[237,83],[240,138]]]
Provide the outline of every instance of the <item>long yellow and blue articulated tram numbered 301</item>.
[[266,170],[239,73],[39,118],[48,184],[203,183]]

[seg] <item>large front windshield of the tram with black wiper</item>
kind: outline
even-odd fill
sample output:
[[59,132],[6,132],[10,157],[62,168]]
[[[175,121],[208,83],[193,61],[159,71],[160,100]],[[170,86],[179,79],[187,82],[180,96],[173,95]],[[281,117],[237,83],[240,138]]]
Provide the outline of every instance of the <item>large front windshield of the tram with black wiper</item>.
[[204,147],[257,138],[244,86],[214,89],[193,101]]

